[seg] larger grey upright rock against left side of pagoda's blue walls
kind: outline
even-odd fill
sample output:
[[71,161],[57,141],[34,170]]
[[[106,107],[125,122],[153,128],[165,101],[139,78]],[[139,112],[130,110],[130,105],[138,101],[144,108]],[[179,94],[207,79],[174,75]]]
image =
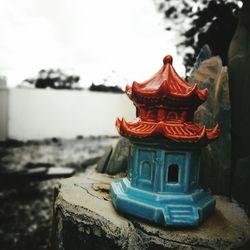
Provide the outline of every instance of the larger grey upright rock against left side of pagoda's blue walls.
[[129,140],[121,137],[112,151],[105,173],[115,175],[126,172],[128,168],[128,150]]

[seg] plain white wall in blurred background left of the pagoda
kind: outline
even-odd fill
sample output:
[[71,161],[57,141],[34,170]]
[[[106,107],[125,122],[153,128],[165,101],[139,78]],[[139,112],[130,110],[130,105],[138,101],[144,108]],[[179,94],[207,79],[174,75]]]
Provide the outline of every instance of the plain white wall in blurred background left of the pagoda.
[[19,140],[118,135],[117,117],[135,118],[125,94],[10,89],[9,137]]

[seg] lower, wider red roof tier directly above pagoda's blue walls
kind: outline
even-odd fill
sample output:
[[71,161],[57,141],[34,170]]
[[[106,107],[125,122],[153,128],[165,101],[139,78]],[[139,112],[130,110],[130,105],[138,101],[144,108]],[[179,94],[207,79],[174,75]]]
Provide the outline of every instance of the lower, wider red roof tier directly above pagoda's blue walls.
[[116,120],[116,127],[121,135],[139,138],[163,137],[172,141],[209,143],[218,138],[219,126],[206,129],[204,125],[191,122],[149,122],[137,119],[135,122]]

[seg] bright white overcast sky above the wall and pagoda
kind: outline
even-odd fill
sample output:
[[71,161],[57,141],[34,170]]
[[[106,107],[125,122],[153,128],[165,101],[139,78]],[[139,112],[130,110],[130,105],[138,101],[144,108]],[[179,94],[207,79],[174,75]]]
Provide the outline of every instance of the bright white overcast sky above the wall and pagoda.
[[184,74],[174,34],[161,26],[153,0],[0,0],[0,6],[0,75],[10,87],[50,67],[73,69],[83,86],[114,70],[111,81],[125,86],[149,78],[166,54]]

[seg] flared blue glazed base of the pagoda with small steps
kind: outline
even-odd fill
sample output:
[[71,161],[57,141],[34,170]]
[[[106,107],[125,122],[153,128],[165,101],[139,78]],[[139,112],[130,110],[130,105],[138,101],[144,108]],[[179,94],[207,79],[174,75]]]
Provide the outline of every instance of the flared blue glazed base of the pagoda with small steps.
[[198,226],[213,213],[215,198],[202,189],[191,193],[155,193],[132,187],[128,178],[111,184],[114,206],[164,226]]

